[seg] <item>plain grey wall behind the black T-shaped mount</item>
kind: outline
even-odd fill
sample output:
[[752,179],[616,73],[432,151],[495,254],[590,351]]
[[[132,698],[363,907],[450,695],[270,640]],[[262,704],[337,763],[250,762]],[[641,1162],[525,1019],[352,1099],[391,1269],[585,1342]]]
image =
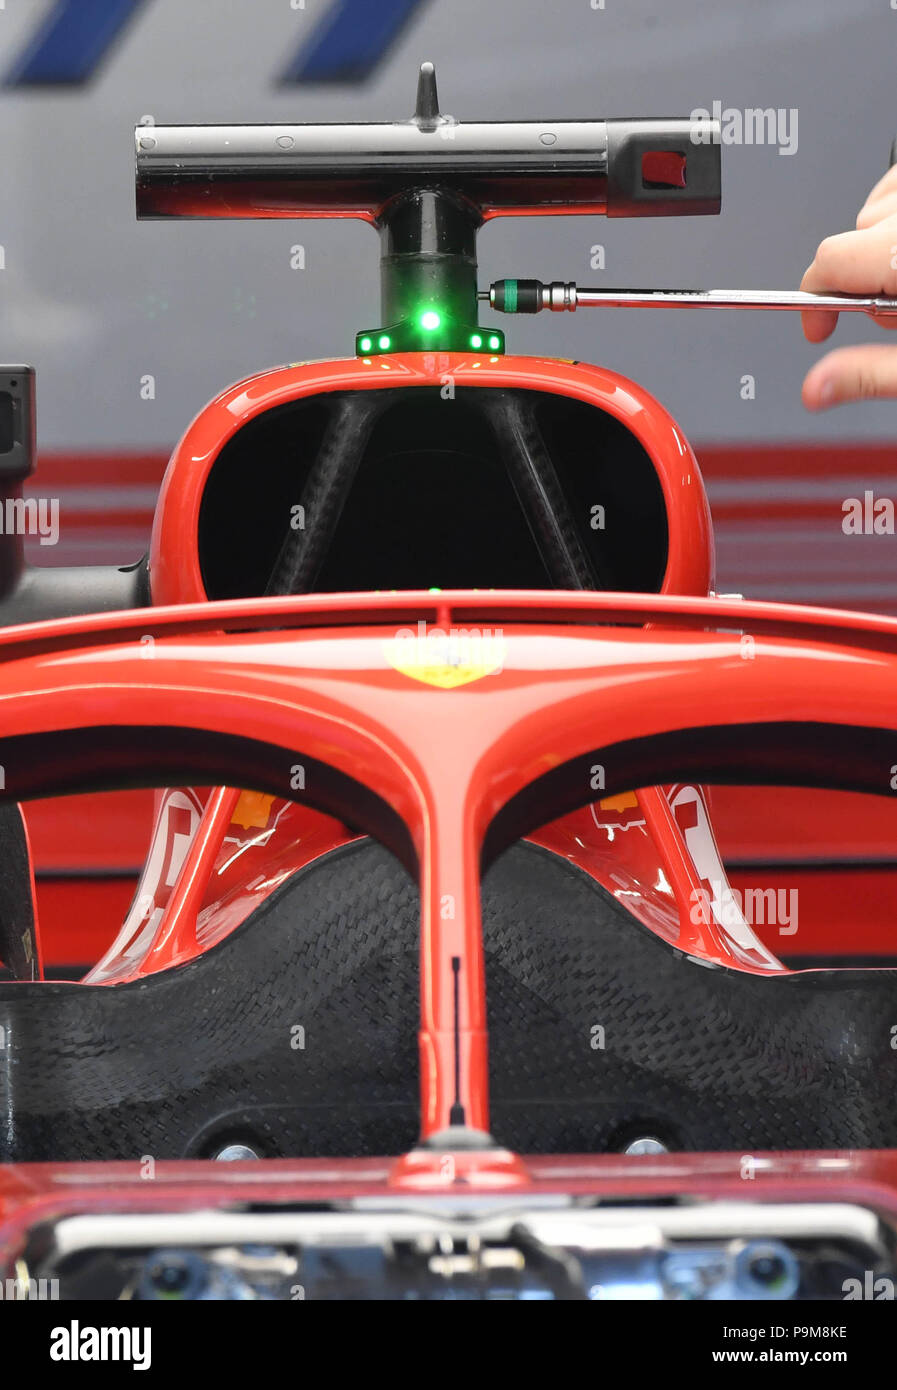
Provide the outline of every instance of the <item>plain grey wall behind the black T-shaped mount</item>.
[[[375,0],[370,0],[375,3]],[[6,0],[0,72],[49,0]],[[45,448],[170,445],[229,381],[346,356],[377,320],[377,238],[360,222],[138,224],[135,120],[381,120],[410,114],[437,63],[456,117],[687,115],[695,106],[797,107],[798,150],[723,147],[719,218],[502,220],[481,281],[795,286],[816,243],[852,225],[897,129],[890,0],[431,0],[360,88],[277,75],[328,0],[149,0],[88,86],[0,89],[0,357],[39,371]],[[306,247],[293,271],[289,247]],[[590,268],[606,247],[604,274]],[[697,441],[893,436],[897,404],[814,418],[819,356],[797,318],[584,311],[505,320],[513,350],[577,356],[636,377]],[[865,318],[837,342],[875,335]],[[143,402],[139,378],[157,396]],[[743,402],[744,373],[757,400]]]

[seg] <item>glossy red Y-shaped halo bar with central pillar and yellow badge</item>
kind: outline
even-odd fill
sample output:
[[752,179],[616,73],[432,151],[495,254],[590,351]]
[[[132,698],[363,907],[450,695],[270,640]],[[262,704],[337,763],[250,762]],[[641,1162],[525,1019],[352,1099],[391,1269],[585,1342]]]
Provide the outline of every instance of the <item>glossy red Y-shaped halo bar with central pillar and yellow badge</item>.
[[[419,623],[427,631],[501,631],[501,667],[453,689],[421,682],[395,666],[396,628]],[[488,1131],[478,866],[499,812],[548,769],[695,723],[762,731],[772,710],[776,721],[894,730],[896,646],[889,619],[740,600],[306,596],[11,628],[0,634],[0,698],[6,738],[115,726],[207,730],[274,744],[285,758],[302,753],[388,802],[407,830],[421,885],[427,1136],[449,1123],[452,958],[464,962],[462,1088],[470,1123]],[[50,767],[28,776],[26,795],[60,790]],[[314,802],[314,788],[305,791]],[[585,788],[580,799],[588,803]],[[227,798],[217,805],[220,815],[213,808],[204,837],[193,841],[206,853],[227,824]],[[202,873],[202,860],[200,848],[188,855],[188,880]],[[713,924],[695,930],[690,899],[677,901],[680,947],[737,969],[769,969],[738,959]],[[167,965],[197,949],[195,924],[182,913],[177,933],[157,933],[147,956]]]

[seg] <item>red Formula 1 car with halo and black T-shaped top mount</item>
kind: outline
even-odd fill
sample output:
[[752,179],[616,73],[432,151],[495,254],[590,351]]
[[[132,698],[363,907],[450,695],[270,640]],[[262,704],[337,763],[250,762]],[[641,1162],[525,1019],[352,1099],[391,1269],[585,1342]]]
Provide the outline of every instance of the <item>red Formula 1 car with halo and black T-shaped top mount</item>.
[[[897,620],[716,595],[676,421],[508,354],[480,303],[897,302],[478,289],[494,217],[719,211],[719,128],[459,122],[430,64],[410,121],[138,126],[136,190],[139,217],[369,221],[381,321],[200,410],[140,563],[31,569],[1,538],[0,1277],[886,1289],[897,969],[783,960],[706,788],[890,795]],[[7,367],[6,507],[32,463]],[[46,979],[21,805],[136,787],[121,931]]]

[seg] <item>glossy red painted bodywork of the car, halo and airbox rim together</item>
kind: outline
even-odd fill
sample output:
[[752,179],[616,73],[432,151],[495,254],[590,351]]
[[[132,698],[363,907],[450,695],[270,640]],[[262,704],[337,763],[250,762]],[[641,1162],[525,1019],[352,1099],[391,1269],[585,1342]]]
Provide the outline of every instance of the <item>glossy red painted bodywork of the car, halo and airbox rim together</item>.
[[[196,556],[202,488],[224,442],[254,414],[305,393],[426,385],[451,374],[466,385],[534,386],[577,396],[623,420],[648,450],[668,505],[669,562],[661,595],[551,591],[309,595],[207,602]],[[22,626],[0,632],[3,737],[83,727],[209,730],[275,744],[338,769],[375,791],[401,816],[413,845],[421,890],[420,1112],[421,1137],[449,1123],[455,1093],[452,959],[462,959],[460,1086],[469,1123],[488,1130],[488,1037],[480,935],[480,852],[490,824],[527,784],[573,758],[624,739],[695,726],[794,720],[897,728],[897,621],[708,596],[712,535],[694,455],[666,411],[612,373],[544,359],[409,354],[387,360],[305,364],[249,378],[211,402],[175,449],[160,498],[150,552],[154,607]],[[175,606],[172,606],[175,605]],[[186,606],[181,606],[186,605]],[[424,624],[419,628],[417,624]],[[427,684],[395,660],[398,630],[501,632],[501,662],[455,688]],[[221,769],[224,776],[227,769]],[[286,764],[285,764],[286,771]],[[883,770],[884,771],[884,770]],[[661,777],[666,785],[666,777]],[[60,794],[56,773],[35,770],[28,795]],[[868,790],[868,788],[865,788]],[[887,792],[887,778],[882,792]],[[236,924],[254,902],[256,877],[221,892],[213,873],[225,837],[250,855],[268,815],[286,805],[281,787],[238,808],[241,792],[218,787],[195,799],[197,830],[172,884],[153,902],[149,940],[128,956],[117,944],[99,979],[135,979],[203,949],[197,916],[213,906],[218,929]],[[631,785],[583,795],[534,838],[602,878],[606,826],[631,817]],[[669,791],[669,788],[668,788]],[[349,838],[314,806],[285,837],[278,872],[288,874]],[[619,798],[615,801],[615,798]],[[302,798],[296,798],[302,799]],[[599,801],[609,801],[601,806]],[[277,808],[275,808],[277,809]],[[738,951],[713,920],[693,920],[701,876],[683,827],[661,787],[637,792],[644,821],[630,855],[663,867],[677,944],[741,970],[766,972],[759,954]],[[257,821],[253,817],[259,817]],[[598,831],[581,844],[584,817]],[[302,834],[296,828],[305,819]],[[243,834],[245,844],[241,841]],[[622,838],[622,837],[617,837]],[[647,858],[645,858],[647,855]],[[654,856],[654,858],[652,858]],[[641,874],[647,881],[647,870]],[[164,876],[163,876],[164,878]],[[271,876],[264,891],[270,891]],[[606,881],[606,880],[605,880]],[[648,924],[649,894],[634,909]],[[227,903],[224,902],[227,899]],[[446,913],[445,905],[451,903]],[[227,908],[227,910],[225,910]],[[640,910],[641,909],[641,910]],[[108,958],[107,958],[108,966]],[[409,1020],[410,1026],[410,1020]],[[797,1197],[832,1194],[894,1208],[897,1158],[869,1155],[755,1155],[757,1183],[725,1155],[669,1156],[637,1170],[617,1158],[517,1156],[414,1151],[381,1161],[267,1162],[252,1190],[266,1198],[359,1195],[419,1188],[634,1194]],[[261,1182],[259,1179],[261,1177]],[[182,1208],[225,1204],[245,1191],[239,1169],[214,1163],[160,1165],[142,1184],[124,1165],[19,1166],[0,1172],[0,1243],[39,1216],[102,1204]]]

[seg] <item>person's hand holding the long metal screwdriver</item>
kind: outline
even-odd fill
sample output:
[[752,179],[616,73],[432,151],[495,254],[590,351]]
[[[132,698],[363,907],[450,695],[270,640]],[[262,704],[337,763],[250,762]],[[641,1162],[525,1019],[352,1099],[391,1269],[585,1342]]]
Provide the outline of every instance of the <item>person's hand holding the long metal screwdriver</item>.
[[[857,217],[857,231],[826,236],[821,243],[801,289],[897,295],[897,167],[869,193]],[[897,318],[873,317],[882,328],[897,328]],[[814,311],[801,318],[804,336],[819,343],[834,332],[839,316]],[[826,410],[846,400],[897,398],[897,346],[836,348],[807,373],[801,395],[808,410]]]

